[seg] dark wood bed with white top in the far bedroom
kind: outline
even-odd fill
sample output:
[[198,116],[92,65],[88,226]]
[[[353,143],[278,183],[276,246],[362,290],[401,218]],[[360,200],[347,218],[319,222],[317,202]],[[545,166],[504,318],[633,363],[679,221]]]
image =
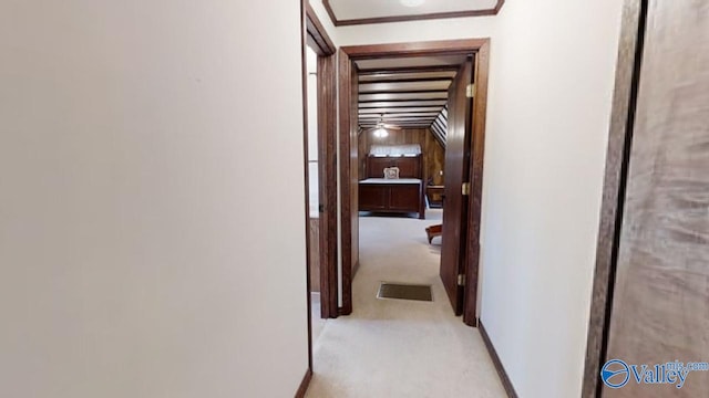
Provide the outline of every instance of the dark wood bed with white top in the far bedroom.
[[[384,170],[398,169],[398,178],[384,178]],[[418,213],[425,218],[420,147],[389,151],[372,147],[364,164],[364,179],[359,181],[359,210],[383,213]]]

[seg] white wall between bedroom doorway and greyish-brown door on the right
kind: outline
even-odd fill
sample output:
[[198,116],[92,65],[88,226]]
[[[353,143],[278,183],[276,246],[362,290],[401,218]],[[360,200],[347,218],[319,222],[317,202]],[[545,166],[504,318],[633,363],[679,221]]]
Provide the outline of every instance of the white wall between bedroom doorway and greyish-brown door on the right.
[[621,2],[506,1],[492,45],[482,322],[521,397],[578,397]]

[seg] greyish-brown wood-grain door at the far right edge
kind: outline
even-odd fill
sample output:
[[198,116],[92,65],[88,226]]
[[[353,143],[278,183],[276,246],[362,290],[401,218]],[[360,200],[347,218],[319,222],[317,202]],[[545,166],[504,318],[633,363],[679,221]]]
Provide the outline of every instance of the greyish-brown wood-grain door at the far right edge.
[[[646,27],[605,360],[709,362],[709,4],[651,0]],[[633,371],[602,387],[603,397],[708,391],[709,371],[681,388]]]

